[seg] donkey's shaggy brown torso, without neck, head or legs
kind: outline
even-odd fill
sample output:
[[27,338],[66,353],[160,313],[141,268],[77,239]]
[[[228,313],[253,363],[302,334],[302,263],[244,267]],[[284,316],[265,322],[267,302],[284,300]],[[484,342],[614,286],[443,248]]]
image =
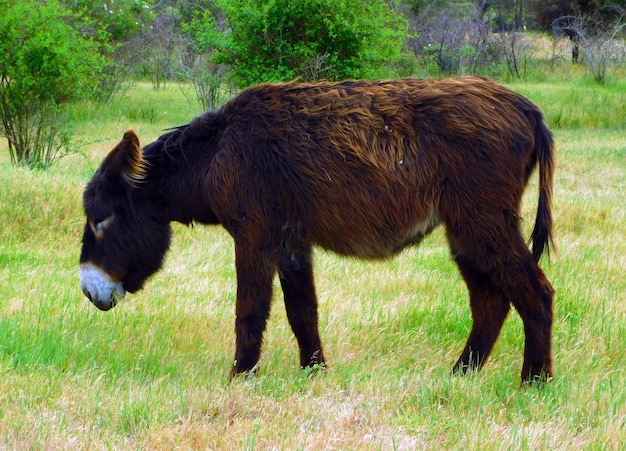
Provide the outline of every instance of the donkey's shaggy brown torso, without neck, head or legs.
[[225,155],[247,161],[242,183],[267,186],[280,225],[363,258],[391,256],[442,221],[517,214],[537,134],[551,146],[532,103],[476,78],[266,84],[222,114],[234,136]]

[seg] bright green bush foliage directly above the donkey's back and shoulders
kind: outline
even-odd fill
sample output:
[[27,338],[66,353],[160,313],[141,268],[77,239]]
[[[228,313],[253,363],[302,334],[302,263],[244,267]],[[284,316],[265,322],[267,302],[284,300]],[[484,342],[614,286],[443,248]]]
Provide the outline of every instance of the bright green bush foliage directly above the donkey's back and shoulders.
[[216,62],[234,81],[337,80],[384,74],[402,55],[406,21],[384,0],[239,0],[220,6],[230,29]]

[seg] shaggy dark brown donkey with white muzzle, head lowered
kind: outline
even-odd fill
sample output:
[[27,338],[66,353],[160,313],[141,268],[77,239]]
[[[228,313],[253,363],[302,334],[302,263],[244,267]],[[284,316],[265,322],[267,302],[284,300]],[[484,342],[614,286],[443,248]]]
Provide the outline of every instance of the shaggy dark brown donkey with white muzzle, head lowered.
[[[159,270],[172,221],[221,224],[237,272],[231,374],[257,369],[276,272],[300,365],[323,367],[312,246],[385,259],[443,224],[473,319],[453,372],[481,368],[513,305],[522,381],[545,380],[553,147],[535,105],[484,79],[253,86],[143,149],[124,134],[84,192],[82,291],[108,310]],[[520,202],[535,167],[531,252]]]

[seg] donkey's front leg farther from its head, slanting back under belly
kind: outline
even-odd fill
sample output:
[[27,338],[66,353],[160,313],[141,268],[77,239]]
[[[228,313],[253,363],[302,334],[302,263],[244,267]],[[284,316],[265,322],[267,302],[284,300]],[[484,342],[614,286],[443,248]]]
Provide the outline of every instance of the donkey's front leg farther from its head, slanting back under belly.
[[313,282],[311,248],[285,254],[278,267],[287,319],[300,347],[302,368],[324,364],[318,330],[317,295]]

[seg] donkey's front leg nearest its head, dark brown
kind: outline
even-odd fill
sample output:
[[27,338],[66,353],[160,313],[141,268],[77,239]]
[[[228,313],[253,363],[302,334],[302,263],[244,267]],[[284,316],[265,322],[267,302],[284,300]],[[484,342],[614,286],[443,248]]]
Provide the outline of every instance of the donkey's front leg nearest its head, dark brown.
[[235,243],[237,266],[237,305],[235,333],[237,344],[231,377],[254,372],[261,355],[263,332],[270,313],[272,279],[276,265],[266,252]]

